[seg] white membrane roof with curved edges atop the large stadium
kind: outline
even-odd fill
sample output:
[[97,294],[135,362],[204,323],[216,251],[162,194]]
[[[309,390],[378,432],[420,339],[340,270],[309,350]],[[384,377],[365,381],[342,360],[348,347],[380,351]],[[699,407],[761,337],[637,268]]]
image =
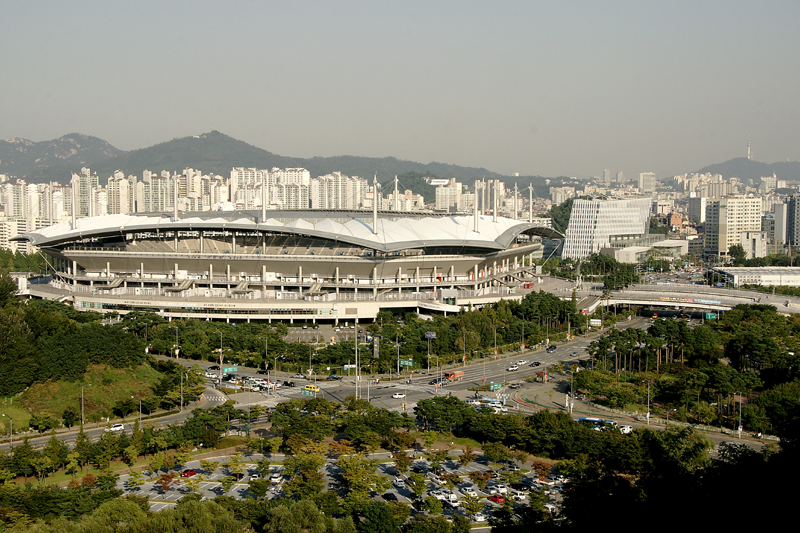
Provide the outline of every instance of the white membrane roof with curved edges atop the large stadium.
[[555,230],[544,226],[542,221],[528,223],[503,217],[498,217],[497,222],[493,222],[491,216],[479,216],[478,232],[473,228],[474,218],[467,215],[404,217],[396,213],[391,216],[381,213],[378,217],[377,233],[373,231],[372,217],[368,212],[281,211],[263,222],[242,213],[202,213],[197,216],[189,214],[177,221],[168,216],[106,215],[79,218],[74,228],[71,221],[61,222],[31,231],[17,239],[45,247],[76,240],[154,231],[268,231],[332,239],[392,252],[430,246],[471,246],[501,250],[507,248],[517,235],[526,231],[545,237],[562,237]]

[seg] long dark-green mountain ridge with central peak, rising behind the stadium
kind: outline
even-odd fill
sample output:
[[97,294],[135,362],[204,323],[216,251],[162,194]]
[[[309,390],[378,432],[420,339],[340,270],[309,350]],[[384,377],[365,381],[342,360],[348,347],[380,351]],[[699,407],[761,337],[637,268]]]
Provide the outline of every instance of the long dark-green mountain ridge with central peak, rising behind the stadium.
[[[99,140],[99,139],[98,139]],[[110,145],[109,145],[110,146]],[[58,164],[53,167],[35,167],[27,171],[8,171],[9,174],[24,176],[31,183],[45,181],[69,180],[71,172],[80,170],[81,165]],[[339,171],[348,176],[369,178],[375,173],[381,182],[394,179],[395,175],[419,172],[422,174],[435,174],[441,177],[468,178],[502,177],[496,172],[485,168],[461,167],[445,163],[416,163],[403,161],[394,157],[286,157],[273,154],[261,148],[252,146],[243,141],[236,140],[218,131],[202,135],[173,139],[168,142],[132,150],[130,152],[117,151],[111,156],[97,158],[92,161],[91,169],[97,172],[100,182],[112,175],[115,170],[122,170],[125,174],[141,176],[143,170],[161,172],[161,170],[181,171],[184,168],[198,169],[204,173],[215,173],[222,176],[230,175],[233,167],[303,167],[307,168],[312,176],[328,174]],[[0,167],[0,172],[3,172]]]

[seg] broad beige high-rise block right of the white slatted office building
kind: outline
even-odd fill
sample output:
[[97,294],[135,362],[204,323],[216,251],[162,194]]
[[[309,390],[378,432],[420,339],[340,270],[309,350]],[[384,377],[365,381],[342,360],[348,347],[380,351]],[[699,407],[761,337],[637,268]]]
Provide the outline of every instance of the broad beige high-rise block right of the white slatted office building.
[[761,198],[709,199],[706,204],[704,253],[727,256],[742,244],[742,234],[761,231]]

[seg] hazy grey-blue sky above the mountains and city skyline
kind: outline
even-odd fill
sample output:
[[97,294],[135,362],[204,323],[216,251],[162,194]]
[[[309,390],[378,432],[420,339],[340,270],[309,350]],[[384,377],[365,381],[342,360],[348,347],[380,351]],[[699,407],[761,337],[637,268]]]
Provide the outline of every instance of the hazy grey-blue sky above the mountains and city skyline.
[[800,159],[800,2],[0,4],[0,138],[523,175]]

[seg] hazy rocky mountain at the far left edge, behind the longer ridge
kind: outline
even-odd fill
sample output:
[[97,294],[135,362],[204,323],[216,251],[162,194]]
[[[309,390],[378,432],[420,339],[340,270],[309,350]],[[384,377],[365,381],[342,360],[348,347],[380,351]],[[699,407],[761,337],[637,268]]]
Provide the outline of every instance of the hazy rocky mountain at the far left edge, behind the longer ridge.
[[28,139],[0,141],[0,174],[23,177],[51,167],[61,167],[67,172],[59,181],[67,181],[67,168],[80,170],[82,166],[123,154],[103,139],[70,133],[52,141],[33,142]]

